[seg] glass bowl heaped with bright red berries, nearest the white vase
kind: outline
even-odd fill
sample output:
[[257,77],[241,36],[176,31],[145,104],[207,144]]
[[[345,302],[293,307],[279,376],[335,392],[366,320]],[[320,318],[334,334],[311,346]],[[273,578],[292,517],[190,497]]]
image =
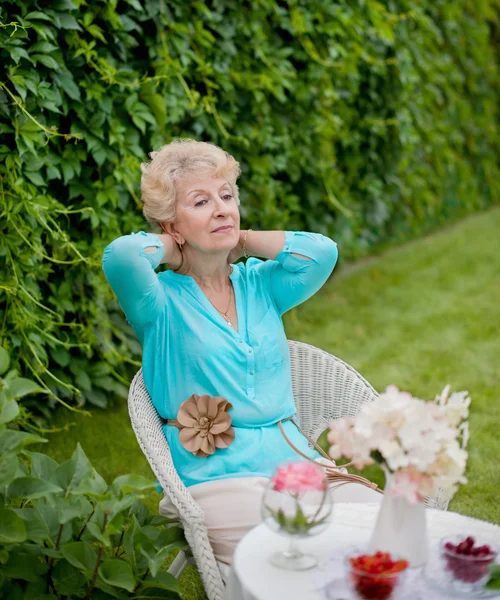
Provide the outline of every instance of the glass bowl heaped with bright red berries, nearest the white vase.
[[347,557],[347,576],[358,598],[388,600],[401,584],[408,561],[378,550],[375,554]]

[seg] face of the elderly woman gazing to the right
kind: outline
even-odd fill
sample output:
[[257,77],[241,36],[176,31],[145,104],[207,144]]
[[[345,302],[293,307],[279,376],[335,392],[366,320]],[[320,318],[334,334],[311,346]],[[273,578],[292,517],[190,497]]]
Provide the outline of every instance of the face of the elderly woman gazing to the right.
[[201,252],[230,252],[240,236],[240,212],[230,184],[215,177],[192,177],[178,181],[176,192],[174,231]]

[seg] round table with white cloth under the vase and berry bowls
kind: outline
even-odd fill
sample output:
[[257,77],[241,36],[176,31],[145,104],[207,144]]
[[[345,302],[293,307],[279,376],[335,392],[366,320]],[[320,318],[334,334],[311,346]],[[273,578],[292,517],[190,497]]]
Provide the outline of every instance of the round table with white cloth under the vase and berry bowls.
[[[320,564],[309,571],[285,571],[274,567],[269,557],[284,550],[288,540],[261,524],[252,529],[236,548],[233,565],[226,585],[226,600],[350,600],[350,596],[335,593],[335,581],[344,579],[344,567],[340,554],[348,546],[368,542],[379,504],[342,503],[335,504],[329,528],[313,538],[300,540],[300,549],[315,554]],[[470,533],[493,544],[500,544],[500,527],[458,513],[427,509],[427,529],[430,546],[445,535]],[[339,554],[340,552],[340,554]],[[436,590],[425,589],[421,570],[413,571],[405,589],[413,586],[411,594],[402,598],[412,600],[438,600],[450,596]],[[333,581],[333,584],[330,583]],[[341,590],[340,585],[339,590]],[[417,590],[418,588],[418,590]],[[328,591],[329,590],[329,591]],[[491,597],[500,597],[490,595]],[[456,595],[455,595],[456,597]]]

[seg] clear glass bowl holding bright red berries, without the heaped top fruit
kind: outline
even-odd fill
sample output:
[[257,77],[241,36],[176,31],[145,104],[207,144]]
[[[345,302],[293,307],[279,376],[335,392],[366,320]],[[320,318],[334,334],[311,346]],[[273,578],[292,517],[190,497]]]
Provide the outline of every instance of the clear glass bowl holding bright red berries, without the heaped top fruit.
[[[373,573],[352,564],[351,559],[361,555],[362,553],[358,552],[347,556],[345,559],[348,582],[355,597],[361,600],[389,600],[393,598],[393,594],[404,580],[408,562],[405,561],[406,565],[399,571]],[[393,561],[400,560],[394,556],[390,556],[390,558]]]

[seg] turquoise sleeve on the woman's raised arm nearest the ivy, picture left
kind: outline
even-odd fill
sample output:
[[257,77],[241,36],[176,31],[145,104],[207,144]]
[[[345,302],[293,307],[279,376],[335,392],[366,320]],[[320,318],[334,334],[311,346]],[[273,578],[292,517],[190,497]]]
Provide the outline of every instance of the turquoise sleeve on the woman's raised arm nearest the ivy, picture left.
[[[151,246],[156,251],[145,252]],[[163,255],[158,236],[143,231],[124,235],[104,250],[104,274],[134,328],[154,321],[165,305],[165,292],[155,273]]]

